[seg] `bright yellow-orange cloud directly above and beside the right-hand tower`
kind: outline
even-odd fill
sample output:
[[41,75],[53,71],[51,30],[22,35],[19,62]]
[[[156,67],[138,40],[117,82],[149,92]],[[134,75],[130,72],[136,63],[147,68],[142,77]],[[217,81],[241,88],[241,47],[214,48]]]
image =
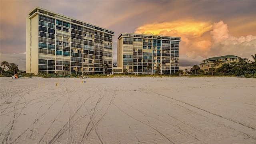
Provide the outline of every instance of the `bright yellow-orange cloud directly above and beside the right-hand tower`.
[[196,58],[198,55],[206,56],[211,41],[206,35],[212,29],[210,22],[175,21],[146,24],[136,29],[137,34],[154,34],[181,37],[180,54]]

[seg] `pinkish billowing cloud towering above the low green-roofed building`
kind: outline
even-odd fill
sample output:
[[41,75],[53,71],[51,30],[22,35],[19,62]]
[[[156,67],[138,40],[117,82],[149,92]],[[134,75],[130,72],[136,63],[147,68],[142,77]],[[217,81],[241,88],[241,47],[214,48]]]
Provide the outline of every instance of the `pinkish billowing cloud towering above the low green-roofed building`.
[[236,55],[251,58],[256,53],[256,36],[234,37],[229,34],[228,25],[223,21],[214,23],[212,31],[212,45],[209,55]]

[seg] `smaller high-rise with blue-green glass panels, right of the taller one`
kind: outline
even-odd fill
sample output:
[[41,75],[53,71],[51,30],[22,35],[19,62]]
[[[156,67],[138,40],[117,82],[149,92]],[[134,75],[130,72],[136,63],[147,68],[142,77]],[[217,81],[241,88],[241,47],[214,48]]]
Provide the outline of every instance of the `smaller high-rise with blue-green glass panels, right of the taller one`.
[[133,74],[176,73],[180,37],[121,33],[117,42],[117,67]]

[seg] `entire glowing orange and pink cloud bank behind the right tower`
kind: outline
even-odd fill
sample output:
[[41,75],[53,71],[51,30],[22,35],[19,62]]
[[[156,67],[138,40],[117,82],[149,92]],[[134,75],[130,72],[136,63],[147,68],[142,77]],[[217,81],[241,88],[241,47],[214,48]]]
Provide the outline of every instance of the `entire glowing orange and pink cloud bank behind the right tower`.
[[237,55],[250,58],[256,52],[256,36],[234,37],[223,21],[210,22],[175,21],[146,24],[136,29],[137,34],[154,34],[181,37],[180,55],[190,59]]

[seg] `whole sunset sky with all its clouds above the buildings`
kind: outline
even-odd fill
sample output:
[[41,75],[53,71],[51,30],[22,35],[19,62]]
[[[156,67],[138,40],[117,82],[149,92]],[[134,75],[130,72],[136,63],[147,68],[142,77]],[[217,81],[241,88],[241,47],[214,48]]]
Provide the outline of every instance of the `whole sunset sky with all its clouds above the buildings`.
[[255,0],[0,0],[0,61],[26,70],[26,16],[35,7],[115,32],[181,37],[180,69],[256,53]]

